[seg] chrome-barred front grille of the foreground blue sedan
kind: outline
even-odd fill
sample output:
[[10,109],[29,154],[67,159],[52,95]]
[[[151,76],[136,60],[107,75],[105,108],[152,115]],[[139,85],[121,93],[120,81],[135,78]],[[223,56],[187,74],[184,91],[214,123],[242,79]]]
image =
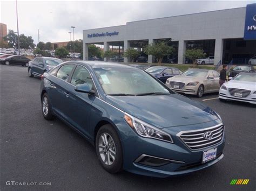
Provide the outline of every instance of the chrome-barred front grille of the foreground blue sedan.
[[[205,139],[204,134],[211,131],[213,136],[211,139]],[[179,135],[180,134],[180,135]],[[224,125],[214,126],[213,128],[207,128],[196,131],[184,131],[178,133],[178,136],[191,150],[199,150],[209,146],[218,144],[223,139]]]

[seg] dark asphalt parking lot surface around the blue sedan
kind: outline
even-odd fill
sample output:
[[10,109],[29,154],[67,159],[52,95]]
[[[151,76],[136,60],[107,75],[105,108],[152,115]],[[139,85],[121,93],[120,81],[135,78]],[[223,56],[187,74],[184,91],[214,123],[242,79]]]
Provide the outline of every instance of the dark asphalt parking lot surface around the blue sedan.
[[[256,189],[256,107],[220,102],[217,94],[190,98],[204,102],[223,118],[224,159],[202,171],[151,178],[100,166],[95,148],[58,119],[46,121],[39,100],[39,78],[26,67],[0,65],[1,190],[227,190]],[[250,179],[248,185],[230,185]],[[51,182],[49,186],[8,186],[6,181]]]

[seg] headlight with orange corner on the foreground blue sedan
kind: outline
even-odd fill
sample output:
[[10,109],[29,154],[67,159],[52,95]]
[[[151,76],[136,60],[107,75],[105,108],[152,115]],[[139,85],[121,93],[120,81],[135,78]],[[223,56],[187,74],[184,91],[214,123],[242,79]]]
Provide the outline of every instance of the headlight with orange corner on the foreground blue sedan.
[[141,121],[140,119],[132,117],[131,115],[126,114],[126,113],[124,114],[124,119],[129,124],[129,126],[135,132],[138,133],[139,136],[163,140],[165,142],[173,143],[172,137],[168,133],[166,133],[150,124],[147,124],[147,123]]

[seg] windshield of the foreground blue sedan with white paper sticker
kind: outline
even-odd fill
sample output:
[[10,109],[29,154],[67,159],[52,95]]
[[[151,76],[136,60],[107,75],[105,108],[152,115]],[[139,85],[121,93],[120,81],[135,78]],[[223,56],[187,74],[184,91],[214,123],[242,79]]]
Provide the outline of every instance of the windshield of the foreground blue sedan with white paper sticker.
[[94,68],[105,94],[113,96],[163,95],[173,93],[143,70]]

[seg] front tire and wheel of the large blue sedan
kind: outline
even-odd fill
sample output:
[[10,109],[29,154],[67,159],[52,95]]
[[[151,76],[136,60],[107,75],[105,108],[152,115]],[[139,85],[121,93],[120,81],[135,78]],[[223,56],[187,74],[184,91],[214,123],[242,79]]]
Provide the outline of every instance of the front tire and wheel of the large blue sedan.
[[96,153],[102,167],[110,173],[123,168],[123,151],[120,139],[113,126],[103,125],[96,136]]

